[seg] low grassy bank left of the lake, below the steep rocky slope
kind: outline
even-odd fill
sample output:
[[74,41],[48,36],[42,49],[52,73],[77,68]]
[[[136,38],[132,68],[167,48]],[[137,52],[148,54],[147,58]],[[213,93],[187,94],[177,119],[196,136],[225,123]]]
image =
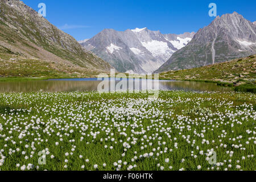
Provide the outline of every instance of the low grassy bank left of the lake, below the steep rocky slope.
[[[24,56],[0,53],[0,80],[13,78],[67,78],[67,77],[96,77],[102,71],[44,61],[28,59]],[[2,78],[1,78],[2,77]],[[9,79],[11,77],[12,79]]]

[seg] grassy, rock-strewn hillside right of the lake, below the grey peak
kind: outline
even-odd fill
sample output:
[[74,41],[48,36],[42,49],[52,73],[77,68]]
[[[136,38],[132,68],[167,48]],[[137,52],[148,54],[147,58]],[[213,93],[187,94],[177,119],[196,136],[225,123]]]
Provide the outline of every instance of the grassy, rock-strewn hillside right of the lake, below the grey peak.
[[161,79],[208,81],[239,88],[256,87],[256,55],[209,65],[207,67],[184,69],[160,73]]

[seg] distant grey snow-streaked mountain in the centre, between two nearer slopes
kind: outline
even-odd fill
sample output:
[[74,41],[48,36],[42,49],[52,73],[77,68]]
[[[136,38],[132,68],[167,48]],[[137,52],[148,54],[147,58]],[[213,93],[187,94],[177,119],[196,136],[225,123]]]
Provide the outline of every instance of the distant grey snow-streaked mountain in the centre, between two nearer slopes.
[[147,28],[123,32],[105,29],[81,45],[108,61],[119,72],[152,73],[174,52],[187,45],[194,35],[195,32],[161,34]]

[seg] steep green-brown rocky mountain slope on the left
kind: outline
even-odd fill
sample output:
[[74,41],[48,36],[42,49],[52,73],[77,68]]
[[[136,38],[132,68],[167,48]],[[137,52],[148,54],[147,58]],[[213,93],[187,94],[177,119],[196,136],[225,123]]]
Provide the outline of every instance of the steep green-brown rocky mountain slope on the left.
[[19,0],[0,1],[0,53],[55,63],[56,68],[82,68],[88,73],[111,67]]

